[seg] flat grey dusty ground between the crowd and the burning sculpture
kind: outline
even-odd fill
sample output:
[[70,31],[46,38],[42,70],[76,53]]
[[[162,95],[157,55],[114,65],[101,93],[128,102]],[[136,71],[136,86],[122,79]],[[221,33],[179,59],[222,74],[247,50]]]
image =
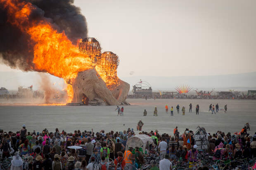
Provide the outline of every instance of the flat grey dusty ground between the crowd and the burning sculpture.
[[[24,102],[24,101],[23,101]],[[242,129],[246,122],[251,124],[250,133],[256,132],[256,100],[188,100],[188,99],[128,99],[130,106],[124,106],[124,116],[117,116],[114,109],[116,106],[35,106],[35,105],[2,105],[0,106],[0,128],[5,131],[17,131],[26,124],[29,131],[42,131],[47,128],[54,131],[60,130],[73,132],[75,129],[95,131],[120,131],[128,127],[136,129],[137,122],[142,120],[142,130],[149,131],[158,129],[160,133],[172,134],[173,128],[183,132],[185,128],[196,130],[203,126],[206,131],[214,133],[222,130],[225,133],[234,133]],[[217,114],[208,112],[209,104],[218,102],[220,109],[228,105],[228,113],[220,111]],[[0,100],[0,103],[4,101]],[[188,112],[188,105],[192,103],[192,113]],[[165,105],[186,107],[185,116],[174,116],[165,112]],[[195,105],[200,105],[199,115],[195,114]],[[154,107],[158,108],[158,116],[153,116]],[[143,116],[147,109],[147,116]],[[125,126],[123,126],[125,124]]]

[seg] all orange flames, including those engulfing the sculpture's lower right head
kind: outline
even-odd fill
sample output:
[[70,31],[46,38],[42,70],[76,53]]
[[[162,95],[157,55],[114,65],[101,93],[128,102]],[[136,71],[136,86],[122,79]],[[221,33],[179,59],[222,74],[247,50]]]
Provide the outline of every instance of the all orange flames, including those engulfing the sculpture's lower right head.
[[[99,54],[90,54],[86,51],[81,53],[78,46],[73,45],[64,32],[58,33],[48,19],[43,18],[40,21],[29,19],[33,10],[37,9],[36,6],[21,0],[0,0],[0,2],[8,11],[8,22],[30,36],[28,44],[31,44],[34,55],[34,65],[31,69],[48,72],[65,80],[69,96],[66,102],[71,102],[73,99],[71,79],[75,78],[78,72],[95,68],[108,88],[118,84],[116,69],[119,59],[116,54],[105,52],[101,56],[100,51]],[[77,40],[77,43],[79,42],[81,40]],[[96,57],[94,55],[97,55],[99,61],[92,63],[92,58]]]

